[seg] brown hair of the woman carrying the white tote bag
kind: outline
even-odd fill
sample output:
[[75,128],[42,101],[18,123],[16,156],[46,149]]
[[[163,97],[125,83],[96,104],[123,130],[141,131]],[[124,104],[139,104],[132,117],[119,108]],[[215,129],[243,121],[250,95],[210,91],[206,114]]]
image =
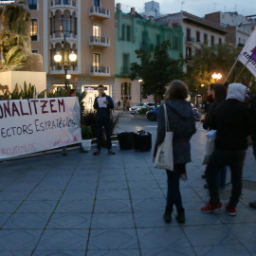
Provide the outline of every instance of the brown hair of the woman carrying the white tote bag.
[[168,86],[165,93],[165,100],[186,100],[188,98],[188,88],[184,82],[174,80]]

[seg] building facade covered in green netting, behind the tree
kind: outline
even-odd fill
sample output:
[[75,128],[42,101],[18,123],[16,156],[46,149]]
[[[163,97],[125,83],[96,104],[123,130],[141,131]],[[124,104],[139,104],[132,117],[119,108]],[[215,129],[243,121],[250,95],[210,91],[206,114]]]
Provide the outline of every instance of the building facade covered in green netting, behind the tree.
[[128,99],[131,103],[154,101],[152,96],[146,97],[141,93],[140,83],[131,81],[130,65],[139,63],[135,50],[146,48],[154,51],[155,46],[170,40],[169,54],[178,59],[183,54],[183,33],[181,27],[168,27],[155,23],[154,17],[147,20],[132,8],[130,13],[124,13],[117,5],[116,9],[116,83],[115,99]]

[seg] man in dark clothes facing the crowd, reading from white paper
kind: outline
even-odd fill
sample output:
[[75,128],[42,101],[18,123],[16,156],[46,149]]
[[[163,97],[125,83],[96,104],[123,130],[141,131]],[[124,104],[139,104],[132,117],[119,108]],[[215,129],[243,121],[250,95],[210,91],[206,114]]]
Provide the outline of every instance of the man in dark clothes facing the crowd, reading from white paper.
[[[115,155],[112,151],[112,142],[110,134],[110,111],[114,109],[114,102],[112,98],[104,93],[103,85],[98,86],[99,97],[95,98],[94,109],[97,110],[96,113],[96,133],[97,133],[97,151],[94,155],[99,155],[101,153],[102,145],[102,127],[105,129],[105,135],[107,139],[107,149],[109,155]],[[104,101],[101,102],[101,98]]]

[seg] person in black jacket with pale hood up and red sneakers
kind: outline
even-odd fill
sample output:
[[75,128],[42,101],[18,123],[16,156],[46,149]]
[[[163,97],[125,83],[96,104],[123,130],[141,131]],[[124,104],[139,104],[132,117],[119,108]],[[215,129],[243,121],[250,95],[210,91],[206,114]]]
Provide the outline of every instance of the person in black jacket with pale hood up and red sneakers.
[[243,165],[246,158],[247,136],[250,132],[249,110],[245,105],[247,86],[230,83],[227,100],[215,110],[216,140],[215,150],[210,155],[206,169],[206,179],[210,201],[201,210],[206,213],[222,210],[217,174],[226,165],[231,171],[232,191],[229,203],[225,206],[230,216],[236,215],[236,206],[242,192]]

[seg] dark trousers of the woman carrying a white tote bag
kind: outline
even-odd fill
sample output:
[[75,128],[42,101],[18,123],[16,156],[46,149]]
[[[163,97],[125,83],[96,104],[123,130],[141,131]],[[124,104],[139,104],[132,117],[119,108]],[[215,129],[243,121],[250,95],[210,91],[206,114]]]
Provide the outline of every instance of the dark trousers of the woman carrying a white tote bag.
[[172,211],[174,205],[178,212],[184,210],[179,190],[179,177],[181,171],[184,170],[185,166],[186,163],[174,164],[174,171],[166,170],[168,185],[166,210],[168,211]]

